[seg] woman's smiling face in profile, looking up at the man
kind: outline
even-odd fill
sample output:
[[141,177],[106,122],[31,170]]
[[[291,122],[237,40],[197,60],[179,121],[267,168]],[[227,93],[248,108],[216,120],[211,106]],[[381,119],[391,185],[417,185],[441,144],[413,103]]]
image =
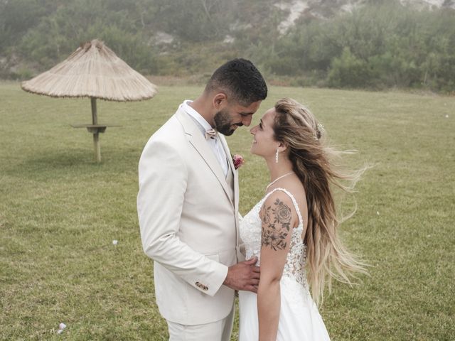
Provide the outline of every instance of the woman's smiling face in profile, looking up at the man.
[[264,158],[274,157],[279,143],[274,139],[275,108],[267,110],[257,126],[250,129],[253,136],[251,153]]

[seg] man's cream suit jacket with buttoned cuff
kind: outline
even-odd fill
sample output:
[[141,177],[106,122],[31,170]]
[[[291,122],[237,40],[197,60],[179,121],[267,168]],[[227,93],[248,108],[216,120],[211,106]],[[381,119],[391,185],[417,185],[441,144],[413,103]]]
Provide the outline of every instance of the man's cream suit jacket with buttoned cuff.
[[[223,135],[220,141],[230,156]],[[159,311],[171,322],[211,323],[232,309],[234,291],[223,281],[228,266],[242,256],[237,171],[228,159],[233,192],[198,126],[180,108],[142,152],[137,196],[142,246],[154,259]]]

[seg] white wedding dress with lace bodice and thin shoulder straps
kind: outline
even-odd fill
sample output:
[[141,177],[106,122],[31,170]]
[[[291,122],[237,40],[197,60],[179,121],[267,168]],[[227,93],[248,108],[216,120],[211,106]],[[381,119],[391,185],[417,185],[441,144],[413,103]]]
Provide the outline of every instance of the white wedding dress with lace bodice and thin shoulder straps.
[[[306,246],[301,239],[304,224],[299,205],[291,193],[284,188],[276,188],[267,193],[255,207],[243,217],[240,223],[240,237],[245,243],[246,259],[257,256],[260,262],[262,222],[259,210],[267,197],[275,190],[282,190],[291,197],[299,215],[299,226],[294,228],[291,245],[284,265],[281,287],[281,308],[277,341],[326,341],[330,340],[318,308],[309,293],[305,273]],[[259,339],[259,321],[257,318],[256,294],[240,291],[240,328],[239,341],[257,341]]]

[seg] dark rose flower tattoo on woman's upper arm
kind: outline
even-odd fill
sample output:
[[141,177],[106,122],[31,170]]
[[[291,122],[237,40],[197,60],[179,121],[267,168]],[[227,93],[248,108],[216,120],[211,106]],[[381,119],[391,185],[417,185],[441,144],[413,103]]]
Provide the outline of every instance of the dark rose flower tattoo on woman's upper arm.
[[274,207],[262,207],[259,216],[262,220],[262,245],[274,251],[286,249],[285,239],[291,229],[291,209],[281,200]]

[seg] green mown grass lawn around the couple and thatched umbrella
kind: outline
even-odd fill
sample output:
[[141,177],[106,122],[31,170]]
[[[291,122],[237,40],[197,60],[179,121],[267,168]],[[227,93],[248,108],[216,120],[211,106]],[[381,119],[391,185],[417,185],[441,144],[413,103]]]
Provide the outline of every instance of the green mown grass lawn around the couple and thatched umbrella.
[[[52,99],[0,83],[0,339],[167,340],[141,249],[137,163],[149,136],[202,87],[159,87],[145,102]],[[272,87],[253,122],[280,97],[307,104],[338,148],[357,148],[358,212],[341,227],[370,264],[349,288],[335,283],[321,315],[332,340],[455,340],[455,98],[404,92]],[[269,178],[241,128],[240,211]],[[349,206],[349,205],[348,205]],[[112,240],[117,239],[114,246]],[[68,325],[57,334],[60,322]],[[236,340],[237,326],[232,335]]]

